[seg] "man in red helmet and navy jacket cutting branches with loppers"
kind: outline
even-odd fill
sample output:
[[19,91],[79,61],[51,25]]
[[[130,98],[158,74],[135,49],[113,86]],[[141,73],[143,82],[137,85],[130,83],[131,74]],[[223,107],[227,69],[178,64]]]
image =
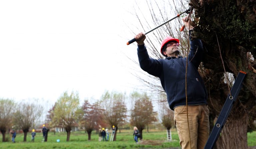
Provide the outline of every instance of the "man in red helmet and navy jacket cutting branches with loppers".
[[[189,28],[189,22],[183,22]],[[190,34],[193,27],[190,25]],[[138,44],[138,58],[140,67],[151,75],[160,78],[162,87],[167,94],[168,104],[174,110],[174,122],[177,127],[182,149],[190,149],[190,138],[192,149],[203,149],[209,137],[209,110],[207,108],[207,92],[203,80],[198,73],[198,67],[203,55],[203,46],[200,39],[192,40],[190,37],[190,52],[188,55],[187,81],[186,57],[178,56],[179,39],[166,37],[161,44],[161,53],[165,59],[150,58],[144,40],[146,36],[139,33],[135,36]],[[188,98],[188,120],[186,109],[187,84]],[[190,138],[189,138],[190,130]]]

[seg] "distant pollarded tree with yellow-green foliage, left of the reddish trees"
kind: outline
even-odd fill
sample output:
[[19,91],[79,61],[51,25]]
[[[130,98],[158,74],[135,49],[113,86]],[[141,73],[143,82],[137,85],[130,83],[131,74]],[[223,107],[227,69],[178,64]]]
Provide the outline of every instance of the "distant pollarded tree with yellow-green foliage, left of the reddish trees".
[[53,110],[53,121],[59,127],[64,127],[67,132],[67,141],[69,141],[72,127],[77,125],[79,117],[79,96],[73,91],[69,95],[64,92],[55,103]]

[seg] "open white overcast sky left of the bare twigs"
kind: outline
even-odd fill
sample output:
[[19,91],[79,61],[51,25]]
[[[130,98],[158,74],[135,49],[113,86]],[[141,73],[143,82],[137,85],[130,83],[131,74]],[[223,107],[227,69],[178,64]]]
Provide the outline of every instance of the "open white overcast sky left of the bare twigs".
[[[80,100],[141,83],[127,24],[134,1],[6,0],[0,2],[0,98],[44,99],[64,91]],[[134,31],[139,32],[139,31]],[[133,72],[132,72],[133,73]]]

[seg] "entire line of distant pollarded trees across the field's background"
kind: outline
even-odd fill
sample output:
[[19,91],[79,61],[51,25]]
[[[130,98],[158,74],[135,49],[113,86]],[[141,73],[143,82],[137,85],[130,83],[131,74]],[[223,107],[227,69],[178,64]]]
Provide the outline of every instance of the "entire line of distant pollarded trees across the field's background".
[[[90,103],[85,99],[82,106],[79,103],[79,94],[65,91],[47,113],[47,128],[61,127],[67,132],[67,141],[70,140],[72,127],[77,125],[83,128],[91,140],[93,130],[115,126],[115,131],[121,126],[129,123],[136,126],[143,138],[143,130],[151,123],[158,121],[158,113],[154,111],[152,100],[146,93],[132,92],[129,96],[126,93],[106,91],[101,98]],[[128,109],[127,103],[130,108]],[[166,105],[165,105],[166,107]],[[170,129],[173,126],[173,116],[168,108],[160,108],[160,121]],[[26,141],[29,130],[35,128],[38,119],[42,116],[43,106],[34,103],[16,103],[10,99],[0,99],[0,132],[2,141],[6,140],[6,133],[11,130],[22,130],[23,141]],[[171,112],[172,113],[172,112]],[[55,130],[55,129],[54,129]],[[55,133],[55,132],[54,132]],[[115,133],[113,140],[116,140]]]

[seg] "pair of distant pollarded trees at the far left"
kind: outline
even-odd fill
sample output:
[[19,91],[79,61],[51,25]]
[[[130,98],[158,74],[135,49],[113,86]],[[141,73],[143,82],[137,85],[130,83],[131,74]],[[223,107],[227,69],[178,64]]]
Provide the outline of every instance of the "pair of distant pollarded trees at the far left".
[[26,141],[27,132],[35,126],[42,114],[43,107],[36,103],[15,103],[10,99],[0,99],[0,132],[2,141],[5,142],[5,134],[11,129],[22,130]]

